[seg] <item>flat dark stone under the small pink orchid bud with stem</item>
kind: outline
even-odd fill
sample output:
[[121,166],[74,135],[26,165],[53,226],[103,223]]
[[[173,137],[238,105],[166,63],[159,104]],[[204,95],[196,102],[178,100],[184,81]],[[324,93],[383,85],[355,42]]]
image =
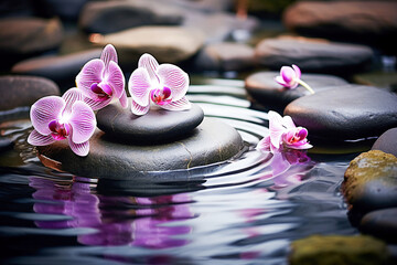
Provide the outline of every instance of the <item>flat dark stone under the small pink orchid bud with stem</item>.
[[[251,100],[269,109],[281,109],[294,99],[310,95],[310,92],[299,85],[289,89],[279,85],[275,77],[280,72],[258,72],[245,80],[245,88]],[[332,86],[346,85],[347,82],[341,77],[323,74],[303,74],[301,77],[314,92],[324,91]]]

